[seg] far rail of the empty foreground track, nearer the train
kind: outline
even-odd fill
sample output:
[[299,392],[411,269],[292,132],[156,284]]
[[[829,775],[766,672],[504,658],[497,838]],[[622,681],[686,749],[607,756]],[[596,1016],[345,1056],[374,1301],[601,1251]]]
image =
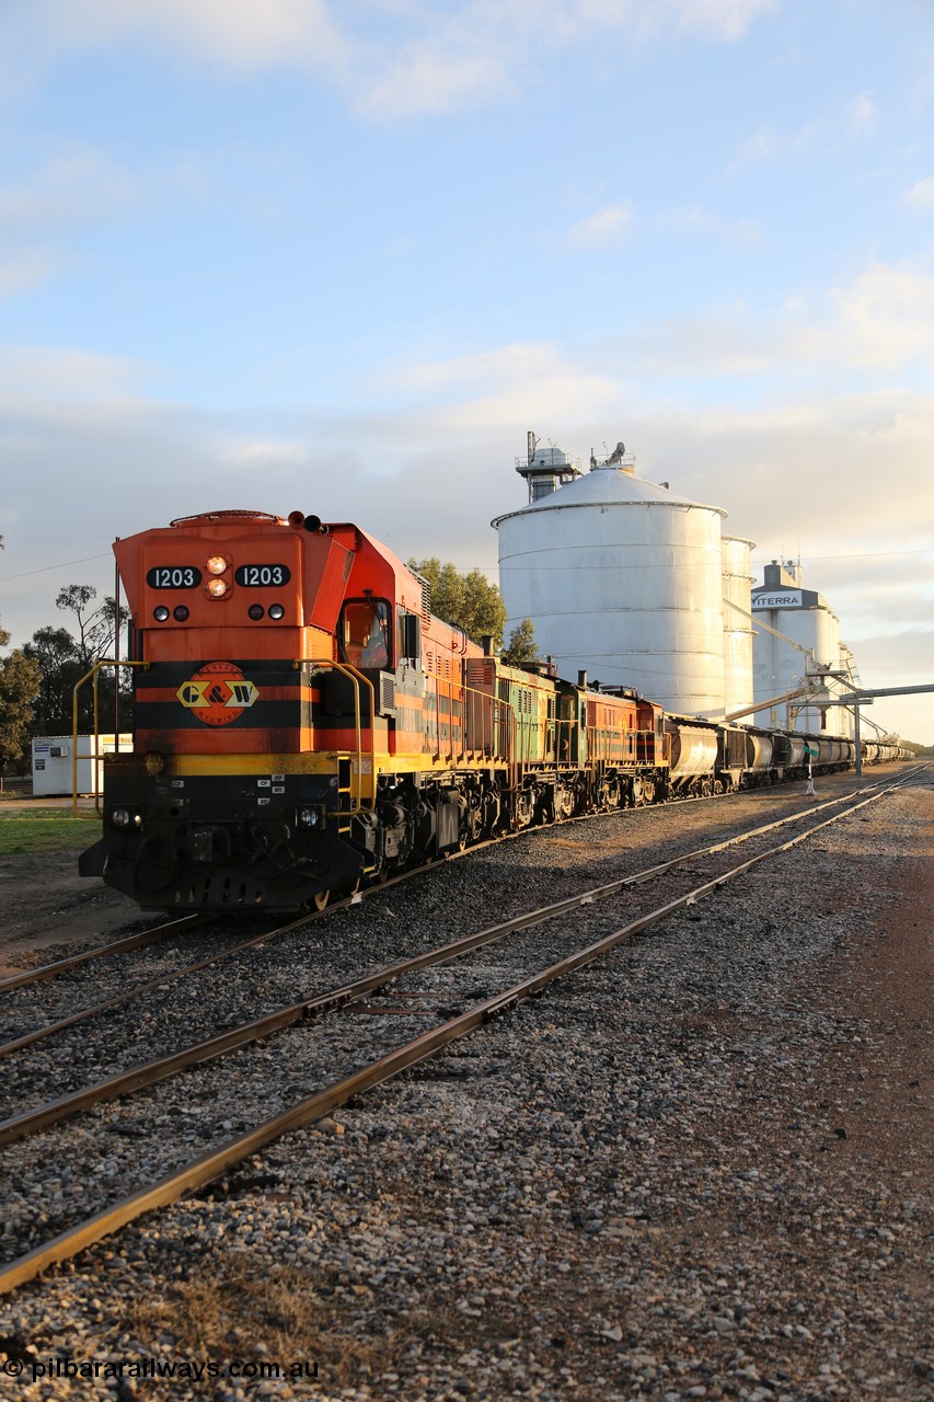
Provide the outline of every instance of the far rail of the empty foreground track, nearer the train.
[[[902,782],[905,782],[905,778],[899,780],[898,785],[891,785],[891,788],[896,788]],[[879,784],[868,785],[861,791],[861,795],[867,795],[879,787]],[[564,900],[541,906],[533,911],[526,911],[522,916],[513,916],[510,920],[502,921],[498,925],[488,927],[487,930],[478,931],[473,935],[464,935],[446,945],[439,945],[438,948],[425,951],[411,959],[401,960],[400,963],[390,965],[376,973],[356,979],[352,983],[332,988],[328,993],[314,994],[310,998],[303,998],[285,1008],[278,1008],[275,1012],[265,1014],[262,1018],[245,1022],[238,1028],[231,1028],[227,1032],[206,1037],[202,1042],[189,1043],[189,1046],[181,1047],[168,1056],[156,1057],[153,1061],[132,1067],[129,1071],[123,1071],[119,1075],[108,1077],[104,1081],[95,1082],[95,1085],[84,1087],[83,1089],[74,1091],[69,1095],[57,1096],[55,1101],[48,1101],[45,1105],[41,1105],[34,1110],[24,1110],[20,1115],[11,1115],[8,1119],[0,1122],[0,1145],[11,1144],[29,1134],[35,1134],[39,1130],[48,1129],[50,1124],[56,1124],[60,1120],[67,1119],[72,1115],[77,1115],[81,1110],[87,1110],[94,1105],[100,1105],[104,1101],[118,1099],[121,1095],[126,1095],[130,1091],[139,1091],[146,1087],[156,1085],[160,1081],[168,1080],[168,1077],[181,1070],[198,1066],[202,1061],[210,1061],[215,1057],[226,1054],[227,1052],[258,1042],[262,1037],[272,1036],[275,1032],[280,1032],[283,1028],[292,1026],[296,1022],[318,1018],[327,1012],[334,1012],[346,1007],[356,998],[379,991],[386,987],[386,984],[393,983],[395,979],[408,973],[417,973],[421,969],[426,969],[433,965],[447,963],[484,945],[505,939],[506,935],[515,934],[519,930],[527,930],[533,925],[544,924],[548,920],[554,920],[557,916],[567,914],[581,906],[589,906],[596,900],[618,894],[618,892],[625,890],[630,886],[641,885],[651,880],[654,876],[661,876],[665,872],[684,866],[691,861],[703,857],[711,857],[715,852],[726,850],[728,847],[736,847],[753,837],[762,837],[764,833],[774,831],[777,827],[784,827],[788,823],[799,822],[802,817],[839,806],[848,798],[853,798],[853,795],[829,799],[826,803],[820,805],[819,809],[806,809],[802,813],[792,813],[787,817],[777,819],[773,823],[766,823],[760,827],[752,829],[749,833],[735,834],[721,843],[714,843],[708,847],[684,852],[682,857],[673,857],[666,862],[648,866],[630,876],[617,878],[613,882],[581,892],[576,896],[567,896]],[[861,806],[861,803],[854,806]],[[848,809],[847,812],[853,809]],[[846,813],[839,816],[843,817]],[[809,829],[809,831],[816,830],[818,827]]]

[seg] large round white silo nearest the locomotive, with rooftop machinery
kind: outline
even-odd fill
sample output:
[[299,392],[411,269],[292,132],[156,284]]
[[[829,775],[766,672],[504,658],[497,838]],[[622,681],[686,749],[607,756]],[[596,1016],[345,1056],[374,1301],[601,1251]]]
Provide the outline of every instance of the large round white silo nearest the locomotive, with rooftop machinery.
[[621,443],[555,488],[492,523],[506,635],[532,618],[561,676],[586,670],[668,711],[722,716],[726,513],[637,478]]

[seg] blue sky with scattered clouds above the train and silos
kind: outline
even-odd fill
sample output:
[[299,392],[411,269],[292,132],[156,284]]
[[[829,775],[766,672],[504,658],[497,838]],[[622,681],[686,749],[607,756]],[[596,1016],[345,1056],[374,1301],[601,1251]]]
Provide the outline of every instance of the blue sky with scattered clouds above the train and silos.
[[931,0],[0,0],[13,645],[215,508],[495,580],[533,429],[934,683],[933,372]]

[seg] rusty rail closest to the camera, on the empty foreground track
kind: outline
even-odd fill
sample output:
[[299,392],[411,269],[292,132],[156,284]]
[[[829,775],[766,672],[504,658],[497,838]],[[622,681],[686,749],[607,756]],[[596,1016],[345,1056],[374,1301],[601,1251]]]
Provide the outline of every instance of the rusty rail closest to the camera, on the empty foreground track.
[[386,1053],[376,1061],[372,1061],[369,1066],[355,1071],[342,1081],[337,1081],[324,1091],[318,1091],[316,1095],[309,1096],[299,1105],[293,1105],[283,1113],[266,1120],[264,1124],[259,1124],[252,1130],[247,1130],[244,1134],[237,1136],[227,1144],[223,1144],[187,1164],[184,1168],[174,1171],[158,1183],[142,1187],[132,1196],[122,1199],[119,1203],[95,1213],[77,1227],[67,1228],[57,1237],[52,1238],[52,1241],[36,1246],[25,1256],[21,1256],[18,1260],[11,1262],[0,1270],[0,1294],[7,1294],[18,1286],[25,1284],[25,1281],[35,1279],[35,1276],[41,1274],[49,1266],[76,1256],[86,1246],[91,1246],[104,1237],[111,1235],[121,1227],[133,1221],[136,1217],[140,1217],[143,1213],[151,1211],[157,1207],[164,1207],[168,1203],[177,1202],[187,1193],[191,1193],[198,1187],[203,1187],[205,1183],[219,1178],[241,1159],[255,1154],[261,1148],[265,1148],[266,1144],[280,1138],[290,1130],[302,1129],[303,1126],[330,1115],[339,1105],[345,1105],[352,1096],[360,1095],[363,1091],[369,1091],[376,1085],[381,1085],[391,1077],[405,1071],[408,1067],[426,1060],[450,1042],[467,1036],[475,1028],[484,1026],[494,1018],[501,1016],[503,1012],[517,1007],[526,998],[541,993],[555,979],[564,977],[565,974],[574,973],[585,965],[592,963],[602,955],[609,953],[624,939],[631,939],[634,935],[649,930],[652,925],[661,924],[668,920],[669,916],[676,914],[687,906],[693,906],[704,896],[708,896],[712,892],[719,890],[728,882],[738,879],[759,862],[788,851],[798,843],[805,841],[805,838],[812,836],[812,833],[820,831],[820,829],[829,827],[832,823],[839,823],[841,819],[848,817],[851,813],[857,812],[860,808],[865,808],[868,803],[878,802],[878,799],[884,798],[898,787],[899,785],[884,788],[879,792],[864,798],[846,812],[834,813],[832,817],[825,819],[813,829],[808,829],[806,833],[798,833],[787,843],[769,848],[769,851],[752,857],[739,866],[731,868],[728,872],[722,872],[714,880],[704,882],[701,886],[679,896],[676,900],[668,901],[668,904],[649,911],[647,916],[631,921],[628,925],[623,925],[620,930],[604,935],[596,944],[588,945],[585,949],[550,965],[547,969],[533,974],[530,979],[524,979],[520,983],[513,984],[510,988],[506,988],[499,994],[494,994],[491,998],[485,998],[482,1002],[475,1004],[466,1012],[450,1018],[447,1022],[442,1023],[442,1026],[433,1028],[431,1032],[424,1032],[421,1036],[395,1047],[395,1050]]

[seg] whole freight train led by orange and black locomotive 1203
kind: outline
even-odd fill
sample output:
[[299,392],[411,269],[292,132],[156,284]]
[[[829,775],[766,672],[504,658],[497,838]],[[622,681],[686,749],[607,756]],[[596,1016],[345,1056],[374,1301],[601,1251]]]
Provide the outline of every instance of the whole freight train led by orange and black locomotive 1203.
[[114,551],[135,736],[104,761],[104,831],[80,871],[144,908],[323,908],[536,823],[854,757],[850,740],[506,666],[358,526],[210,512]]

